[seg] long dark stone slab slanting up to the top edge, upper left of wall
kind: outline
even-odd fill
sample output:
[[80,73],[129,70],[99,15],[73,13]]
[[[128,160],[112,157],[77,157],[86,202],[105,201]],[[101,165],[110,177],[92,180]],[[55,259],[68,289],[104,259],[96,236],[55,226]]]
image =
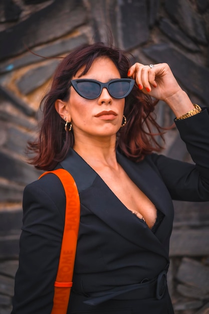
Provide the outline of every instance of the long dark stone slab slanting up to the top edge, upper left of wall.
[[[77,1],[79,5],[80,1]],[[27,20],[0,33],[0,60],[66,35],[86,22],[86,11],[75,1],[56,0]],[[37,27],[39,25],[39,27]],[[33,34],[33,36],[32,36]]]

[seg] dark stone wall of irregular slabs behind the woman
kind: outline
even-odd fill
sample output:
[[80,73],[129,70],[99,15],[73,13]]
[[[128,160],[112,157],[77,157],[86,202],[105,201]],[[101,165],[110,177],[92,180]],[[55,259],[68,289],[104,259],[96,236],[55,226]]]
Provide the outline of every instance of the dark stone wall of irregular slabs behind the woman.
[[[133,62],[167,62],[192,102],[208,105],[208,0],[4,0],[0,3],[0,314],[11,311],[24,186],[39,176],[26,163],[40,100],[59,60],[81,43],[106,41]],[[157,120],[172,124],[160,102]],[[192,162],[176,129],[164,154]],[[176,314],[209,312],[208,203],[174,202],[169,290]]]

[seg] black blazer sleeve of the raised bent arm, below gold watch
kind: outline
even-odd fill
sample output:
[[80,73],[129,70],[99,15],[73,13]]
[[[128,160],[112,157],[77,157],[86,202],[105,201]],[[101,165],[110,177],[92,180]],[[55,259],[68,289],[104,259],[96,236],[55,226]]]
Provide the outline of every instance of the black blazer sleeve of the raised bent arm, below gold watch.
[[165,183],[171,198],[180,201],[209,201],[209,110],[175,121],[193,164],[160,154],[149,157]]

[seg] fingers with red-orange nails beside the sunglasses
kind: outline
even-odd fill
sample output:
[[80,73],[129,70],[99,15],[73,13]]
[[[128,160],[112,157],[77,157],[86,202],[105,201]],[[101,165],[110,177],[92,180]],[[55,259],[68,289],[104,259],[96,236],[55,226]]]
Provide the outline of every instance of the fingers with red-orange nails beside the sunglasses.
[[128,76],[132,76],[135,79],[139,89],[144,88],[147,92],[150,92],[152,87],[157,87],[155,66],[150,68],[148,65],[135,63],[130,67]]

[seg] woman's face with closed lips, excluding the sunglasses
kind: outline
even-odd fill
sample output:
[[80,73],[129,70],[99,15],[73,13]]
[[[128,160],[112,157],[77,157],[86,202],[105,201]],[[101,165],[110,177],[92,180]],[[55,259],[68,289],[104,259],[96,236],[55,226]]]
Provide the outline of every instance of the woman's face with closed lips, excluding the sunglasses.
[[[83,68],[73,79],[94,79],[106,83],[112,79],[121,78],[117,67],[107,57],[97,58],[89,71],[79,76],[82,71]],[[106,88],[103,88],[98,98],[85,99],[71,86],[66,106],[69,112],[67,118],[72,123],[75,140],[77,136],[116,136],[122,124],[124,104],[124,98],[113,98]]]

